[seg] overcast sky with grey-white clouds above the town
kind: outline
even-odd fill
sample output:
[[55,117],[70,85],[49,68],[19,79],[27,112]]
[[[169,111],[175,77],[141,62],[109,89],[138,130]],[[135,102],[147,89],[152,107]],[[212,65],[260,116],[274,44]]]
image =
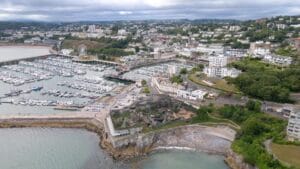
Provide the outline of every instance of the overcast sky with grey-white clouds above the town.
[[0,20],[256,19],[299,15],[300,0],[0,0]]

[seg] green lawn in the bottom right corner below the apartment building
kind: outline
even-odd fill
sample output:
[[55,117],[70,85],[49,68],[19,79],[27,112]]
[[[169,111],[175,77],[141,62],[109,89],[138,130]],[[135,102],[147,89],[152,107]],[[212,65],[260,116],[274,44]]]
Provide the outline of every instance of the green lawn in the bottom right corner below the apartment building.
[[283,163],[300,168],[300,146],[271,144],[272,153]]

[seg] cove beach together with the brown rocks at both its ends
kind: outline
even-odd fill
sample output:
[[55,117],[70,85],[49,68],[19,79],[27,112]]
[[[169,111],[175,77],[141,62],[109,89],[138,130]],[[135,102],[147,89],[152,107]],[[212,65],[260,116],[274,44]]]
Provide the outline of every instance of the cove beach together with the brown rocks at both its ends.
[[[196,151],[221,154],[232,169],[257,169],[243,161],[231,150],[236,132],[226,126],[182,126],[147,134],[112,139],[117,158],[145,155],[157,148],[189,148]],[[116,154],[115,154],[116,155]],[[116,157],[116,156],[115,156]]]

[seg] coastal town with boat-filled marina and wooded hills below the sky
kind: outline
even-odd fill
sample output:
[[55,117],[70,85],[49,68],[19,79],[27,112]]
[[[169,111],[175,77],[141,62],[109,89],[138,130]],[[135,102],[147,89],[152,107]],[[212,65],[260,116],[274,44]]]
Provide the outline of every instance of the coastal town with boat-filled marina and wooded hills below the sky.
[[117,149],[145,133],[225,125],[226,141],[204,140],[249,166],[300,167],[286,157],[300,153],[300,16],[1,22],[0,51],[10,46],[47,50],[1,54],[2,120],[95,118]]

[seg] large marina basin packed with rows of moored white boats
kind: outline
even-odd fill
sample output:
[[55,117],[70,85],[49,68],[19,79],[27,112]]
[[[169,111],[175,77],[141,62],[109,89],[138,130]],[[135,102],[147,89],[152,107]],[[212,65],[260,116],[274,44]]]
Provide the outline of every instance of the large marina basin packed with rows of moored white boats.
[[46,113],[81,111],[124,85],[103,77],[115,71],[114,67],[77,63],[56,55],[1,66],[0,114],[20,106],[27,108],[10,113],[35,114],[41,109]]

